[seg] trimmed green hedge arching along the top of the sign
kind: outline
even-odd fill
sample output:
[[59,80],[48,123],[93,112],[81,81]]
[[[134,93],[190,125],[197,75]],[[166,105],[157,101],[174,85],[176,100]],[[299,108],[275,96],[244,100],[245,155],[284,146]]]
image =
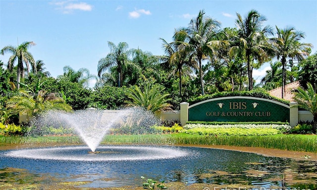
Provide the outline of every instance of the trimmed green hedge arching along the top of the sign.
[[220,93],[215,93],[215,94],[212,94],[212,95],[201,95],[199,97],[189,99],[188,102],[192,105],[192,104],[195,104],[195,103],[207,100],[207,99],[212,99],[212,98],[217,98],[217,97],[227,97],[227,96],[259,97],[259,98],[265,98],[265,99],[278,101],[278,102],[284,103],[286,105],[289,105],[289,101],[287,101],[287,100],[280,99],[280,98],[277,98],[277,97],[273,97],[273,96],[269,95],[266,92],[257,91],[257,90],[253,90],[253,91],[235,91],[235,92],[220,92]]

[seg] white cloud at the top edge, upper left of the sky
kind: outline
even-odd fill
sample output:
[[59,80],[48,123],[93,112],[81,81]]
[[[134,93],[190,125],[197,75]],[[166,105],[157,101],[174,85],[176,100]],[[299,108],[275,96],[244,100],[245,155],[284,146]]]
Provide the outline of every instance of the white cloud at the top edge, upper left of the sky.
[[72,13],[74,10],[91,11],[93,5],[86,2],[74,2],[73,0],[52,1],[51,4],[57,6],[56,9],[61,10],[64,14]]

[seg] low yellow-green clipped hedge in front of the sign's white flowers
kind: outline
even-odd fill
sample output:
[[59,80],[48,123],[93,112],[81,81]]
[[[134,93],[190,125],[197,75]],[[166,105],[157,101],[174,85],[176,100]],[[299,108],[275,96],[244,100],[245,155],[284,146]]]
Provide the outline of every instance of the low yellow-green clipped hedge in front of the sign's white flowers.
[[192,135],[209,135],[209,136],[263,136],[276,135],[282,132],[272,128],[192,128],[181,131],[182,133]]

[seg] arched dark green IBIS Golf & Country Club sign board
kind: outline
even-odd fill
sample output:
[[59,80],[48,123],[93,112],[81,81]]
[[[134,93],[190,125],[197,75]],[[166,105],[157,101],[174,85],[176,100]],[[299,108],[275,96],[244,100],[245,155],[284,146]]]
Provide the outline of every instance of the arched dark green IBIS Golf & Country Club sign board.
[[289,106],[258,97],[220,97],[189,106],[188,121],[289,122]]

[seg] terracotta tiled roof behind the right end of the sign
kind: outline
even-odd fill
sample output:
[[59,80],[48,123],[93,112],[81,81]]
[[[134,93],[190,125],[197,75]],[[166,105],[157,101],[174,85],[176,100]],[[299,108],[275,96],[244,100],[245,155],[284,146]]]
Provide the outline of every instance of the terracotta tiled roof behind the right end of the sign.
[[[289,101],[294,101],[294,92],[295,89],[297,89],[300,86],[299,81],[295,81],[293,83],[285,85],[285,93],[284,93],[284,99]],[[276,89],[268,91],[268,93],[271,96],[275,96],[278,98],[282,98],[282,87],[278,87]]]

